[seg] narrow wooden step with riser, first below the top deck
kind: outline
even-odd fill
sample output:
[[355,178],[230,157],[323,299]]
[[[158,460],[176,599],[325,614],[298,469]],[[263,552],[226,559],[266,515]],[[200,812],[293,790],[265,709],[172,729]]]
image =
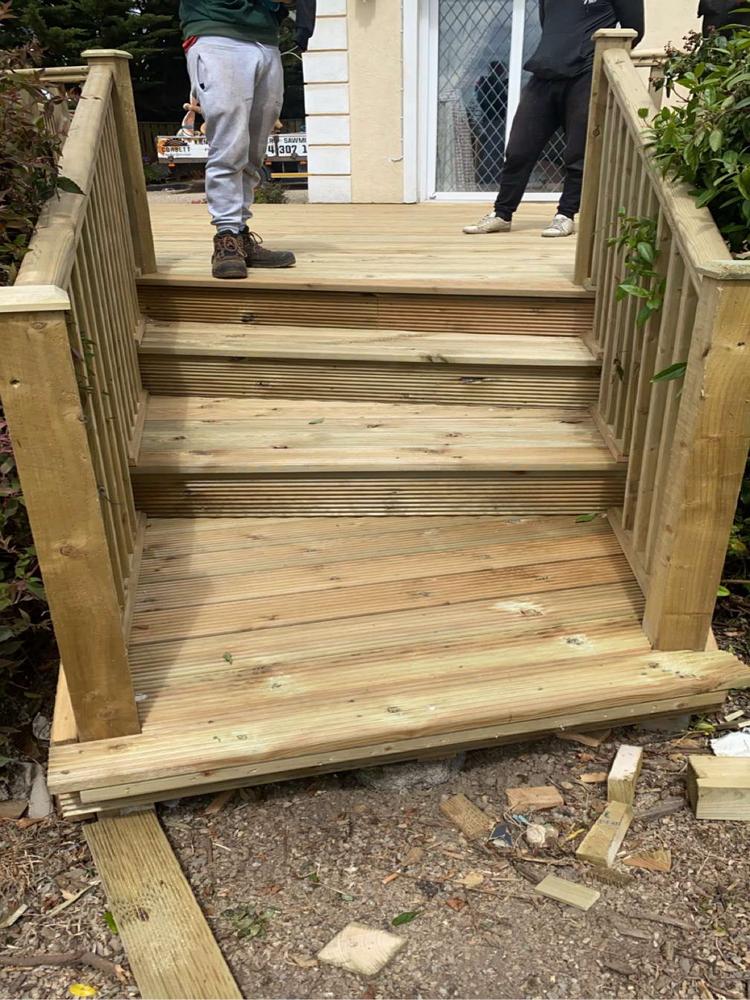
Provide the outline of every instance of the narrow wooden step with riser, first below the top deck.
[[150,323],[159,395],[587,406],[599,364],[579,337]]

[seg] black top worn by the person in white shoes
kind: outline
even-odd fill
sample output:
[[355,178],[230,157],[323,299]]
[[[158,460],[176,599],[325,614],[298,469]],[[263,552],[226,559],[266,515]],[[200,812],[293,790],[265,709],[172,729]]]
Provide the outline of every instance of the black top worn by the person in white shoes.
[[542,39],[524,66],[545,80],[564,80],[590,72],[592,35],[600,28],[635,28],[643,38],[643,0],[539,0]]

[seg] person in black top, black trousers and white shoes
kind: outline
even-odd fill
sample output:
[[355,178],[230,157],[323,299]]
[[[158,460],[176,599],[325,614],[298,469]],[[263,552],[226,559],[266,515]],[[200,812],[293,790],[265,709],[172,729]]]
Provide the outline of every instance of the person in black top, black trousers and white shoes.
[[557,214],[542,236],[570,236],[581,204],[586,151],[593,34],[601,28],[634,28],[643,37],[643,0],[539,0],[542,38],[524,69],[533,75],[521,94],[494,209],[464,232],[508,233],[544,147],[565,133],[565,183]]

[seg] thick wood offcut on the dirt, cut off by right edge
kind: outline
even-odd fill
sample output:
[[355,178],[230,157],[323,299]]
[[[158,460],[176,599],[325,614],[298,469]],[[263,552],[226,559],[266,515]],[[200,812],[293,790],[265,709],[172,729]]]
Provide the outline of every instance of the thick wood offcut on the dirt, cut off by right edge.
[[688,757],[688,798],[697,819],[750,820],[750,757]]

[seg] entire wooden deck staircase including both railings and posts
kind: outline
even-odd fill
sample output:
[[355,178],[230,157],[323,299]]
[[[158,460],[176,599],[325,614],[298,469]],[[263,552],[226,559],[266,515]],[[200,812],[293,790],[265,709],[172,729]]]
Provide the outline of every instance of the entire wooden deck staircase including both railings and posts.
[[[599,43],[575,281],[573,241],[470,244],[439,206],[294,209],[313,236],[263,206],[299,265],[234,283],[200,273],[182,206],[198,264],[170,216],[158,270],[127,56],[90,54],[60,165],[83,197],[48,204],[0,299],[68,815],[748,684],[710,622],[750,272],[653,168],[628,44]],[[662,234],[645,325],[607,239],[622,205]]]

